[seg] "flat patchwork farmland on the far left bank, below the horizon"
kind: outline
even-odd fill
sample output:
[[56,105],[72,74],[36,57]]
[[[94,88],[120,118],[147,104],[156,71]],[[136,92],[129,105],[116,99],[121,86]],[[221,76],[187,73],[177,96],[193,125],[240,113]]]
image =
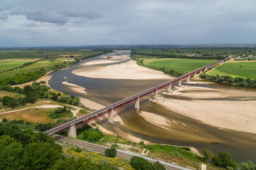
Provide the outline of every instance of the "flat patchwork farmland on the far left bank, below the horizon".
[[[36,71],[41,68],[49,68],[58,65],[64,60],[75,59],[76,56],[87,57],[92,54],[99,54],[102,51],[79,51],[70,49],[22,49],[22,50],[0,50],[0,71],[13,69],[23,65],[26,62],[41,59],[23,68],[0,73],[1,78],[7,78],[16,74],[23,74],[29,71]],[[74,56],[70,58],[69,56]],[[67,61],[69,62],[69,61]]]

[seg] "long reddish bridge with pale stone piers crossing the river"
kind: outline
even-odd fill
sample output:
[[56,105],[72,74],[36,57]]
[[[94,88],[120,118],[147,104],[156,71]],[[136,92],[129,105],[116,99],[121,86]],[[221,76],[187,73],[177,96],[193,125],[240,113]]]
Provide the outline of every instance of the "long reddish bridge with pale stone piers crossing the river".
[[175,79],[172,79],[172,80],[169,80],[167,82],[164,82],[160,85],[157,85],[153,88],[150,88],[146,91],[143,91],[139,94],[135,94],[134,96],[131,96],[131,97],[128,97],[127,99],[123,99],[119,102],[116,102],[112,105],[109,105],[105,108],[102,108],[98,111],[95,111],[93,113],[90,113],[90,114],[87,114],[86,116],[82,116],[78,119],[75,119],[73,121],[70,121],[70,122],[67,122],[63,125],[59,125],[57,127],[53,127],[52,129],[50,130],[47,130],[45,131],[45,133],[49,134],[49,135],[53,135],[53,134],[56,134],[56,133],[59,133],[63,130],[66,130],[67,129],[67,132],[68,132],[68,136],[69,137],[73,137],[73,138],[76,138],[76,128],[77,127],[80,127],[84,124],[87,124],[93,120],[96,120],[98,119],[99,117],[102,117],[103,115],[105,114],[108,114],[108,122],[113,124],[113,111],[118,109],[118,108],[121,108],[121,107],[124,107],[132,102],[135,102],[135,107],[134,109],[135,110],[139,110],[140,109],[140,99],[145,97],[145,96],[148,96],[148,95],[151,95],[151,94],[154,94],[153,96],[153,99],[157,99],[157,91],[160,90],[160,89],[163,89],[163,88],[166,88],[167,87],[167,92],[170,92],[171,91],[171,85],[178,82],[178,86],[181,86],[181,82],[182,82],[182,79],[186,79],[186,82],[189,82],[189,79],[191,76],[193,76],[194,78],[196,77],[196,75],[199,73],[201,74],[202,71],[207,71],[209,68],[213,68],[215,67],[216,65],[219,65],[223,62],[226,62],[227,59],[222,59],[220,61],[217,61],[217,62],[214,62],[212,64],[209,64],[209,65],[206,65],[204,67],[201,67],[201,68],[198,68],[194,71],[191,71],[189,73],[186,73],[180,77],[177,77]]

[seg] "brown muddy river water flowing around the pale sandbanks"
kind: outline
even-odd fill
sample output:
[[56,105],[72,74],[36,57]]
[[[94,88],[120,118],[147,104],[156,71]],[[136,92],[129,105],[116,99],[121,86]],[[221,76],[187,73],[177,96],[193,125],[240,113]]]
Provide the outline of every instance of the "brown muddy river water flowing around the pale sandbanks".
[[[101,58],[93,57],[76,65],[72,65],[68,69],[65,68],[64,70],[51,73],[52,79],[50,79],[49,85],[57,91],[68,91],[69,94],[74,96],[84,97],[102,105],[110,105],[113,102],[125,99],[128,96],[132,96],[138,92],[144,91],[166,81],[163,79],[97,79],[77,76],[71,73],[71,71],[77,68],[91,70],[95,69],[96,67],[115,64],[81,65],[84,62],[96,59]],[[64,81],[84,87],[87,94],[79,94],[74,91],[70,91],[66,85],[61,83]],[[252,88],[242,88],[223,84],[193,84],[192,86],[213,89],[228,88],[241,91],[255,91],[255,89]],[[185,97],[177,98],[176,96],[163,96],[172,99],[191,100]],[[221,100],[236,99],[238,98],[221,98]],[[216,99],[214,98],[207,100]],[[123,121],[123,125],[121,125],[119,122],[109,125],[107,120],[100,121],[100,123],[114,132],[116,131],[116,128],[119,128],[125,133],[130,133],[131,135],[137,136],[148,142],[191,146],[196,147],[199,150],[208,148],[215,154],[217,154],[219,151],[230,150],[233,154],[233,159],[236,161],[241,162],[251,160],[256,163],[256,134],[238,132],[234,130],[222,130],[218,127],[206,125],[198,120],[169,111],[157,103],[150,102],[148,97],[140,99],[140,110],[163,116],[170,121],[177,122],[177,125],[173,126],[172,130],[166,130],[145,121],[145,119],[140,116],[140,111],[134,111],[134,103],[117,110]]]

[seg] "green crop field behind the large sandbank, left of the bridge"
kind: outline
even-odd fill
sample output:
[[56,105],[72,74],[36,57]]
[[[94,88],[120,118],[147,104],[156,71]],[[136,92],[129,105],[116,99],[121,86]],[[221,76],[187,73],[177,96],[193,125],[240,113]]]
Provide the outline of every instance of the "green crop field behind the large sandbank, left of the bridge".
[[[145,57],[145,56],[144,56]],[[149,56],[150,57],[150,56]],[[140,58],[140,57],[138,57]],[[145,64],[154,65],[156,67],[165,67],[177,71],[190,72],[197,68],[216,62],[216,59],[144,59]]]

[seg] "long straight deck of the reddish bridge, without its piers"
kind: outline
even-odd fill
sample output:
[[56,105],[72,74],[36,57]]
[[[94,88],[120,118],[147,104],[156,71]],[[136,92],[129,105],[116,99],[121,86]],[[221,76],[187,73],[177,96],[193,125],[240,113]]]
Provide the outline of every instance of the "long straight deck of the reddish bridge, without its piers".
[[75,119],[75,120],[70,121],[70,122],[68,122],[68,123],[66,123],[66,124],[60,125],[60,126],[58,126],[58,127],[53,127],[52,129],[47,130],[45,133],[50,134],[50,135],[53,135],[53,134],[55,134],[55,133],[59,133],[59,132],[61,132],[62,130],[65,130],[65,129],[69,128],[69,127],[72,126],[72,125],[76,125],[76,127],[79,127],[79,126],[81,126],[81,125],[84,125],[84,124],[86,124],[86,123],[88,123],[88,122],[91,122],[91,121],[93,121],[93,120],[95,120],[95,119],[98,119],[99,117],[101,117],[101,116],[103,116],[103,115],[105,115],[105,114],[107,114],[107,113],[110,113],[112,110],[116,110],[116,109],[121,108],[121,107],[123,107],[123,106],[125,106],[125,105],[128,105],[128,104],[130,104],[131,102],[134,102],[134,101],[136,101],[136,100],[139,99],[139,98],[142,98],[142,97],[144,97],[144,96],[147,96],[147,95],[149,95],[149,94],[154,93],[154,92],[157,91],[158,89],[165,88],[166,86],[168,86],[168,85],[170,85],[170,84],[173,84],[173,83],[175,83],[175,82],[178,82],[178,81],[180,81],[181,79],[185,79],[186,77],[189,77],[190,75],[196,74],[197,72],[199,72],[199,71],[201,71],[201,70],[204,70],[205,68],[214,67],[215,65],[218,65],[219,63],[224,62],[224,61],[226,61],[226,60],[227,60],[227,59],[222,59],[222,60],[220,60],[220,61],[218,61],[218,62],[214,62],[214,63],[212,63],[212,64],[209,64],[209,65],[206,65],[206,66],[204,66],[204,67],[198,68],[198,69],[196,69],[196,70],[194,70],[194,71],[191,71],[191,72],[186,73],[186,74],[184,74],[184,75],[182,75],[182,76],[180,76],[180,77],[177,77],[177,78],[175,78],[175,79],[172,79],[172,80],[169,80],[169,81],[167,81],[167,82],[164,82],[164,83],[162,83],[162,84],[160,84],[160,85],[157,85],[157,86],[155,86],[155,87],[153,87],[153,88],[150,88],[150,89],[148,89],[148,90],[146,90],[146,91],[143,91],[143,92],[141,92],[141,93],[139,93],[139,94],[135,94],[134,96],[131,96],[131,97],[128,97],[128,98],[126,98],[126,99],[123,99],[123,100],[121,100],[121,101],[119,101],[119,102],[113,103],[112,105],[109,105],[109,106],[107,106],[107,107],[105,107],[105,108],[102,108],[102,109],[100,109],[100,110],[98,110],[98,111],[95,111],[95,112],[93,112],[93,113],[87,114],[86,116],[82,116],[82,117],[80,117],[80,118],[78,118],[78,119]]

